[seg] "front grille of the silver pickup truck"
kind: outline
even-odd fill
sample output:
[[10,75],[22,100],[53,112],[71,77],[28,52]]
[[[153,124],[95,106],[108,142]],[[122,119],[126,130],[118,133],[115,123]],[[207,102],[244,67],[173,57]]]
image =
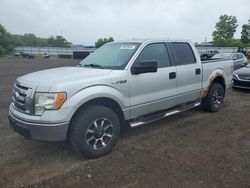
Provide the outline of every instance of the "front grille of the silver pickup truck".
[[16,82],[13,89],[12,101],[14,107],[23,113],[31,113],[31,93],[32,88],[21,85]]

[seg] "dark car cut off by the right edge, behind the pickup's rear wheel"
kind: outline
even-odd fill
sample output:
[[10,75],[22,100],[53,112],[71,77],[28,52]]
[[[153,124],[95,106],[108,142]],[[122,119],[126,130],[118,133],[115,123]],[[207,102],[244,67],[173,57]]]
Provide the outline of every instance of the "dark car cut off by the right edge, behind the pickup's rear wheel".
[[233,87],[250,89],[250,64],[233,72]]

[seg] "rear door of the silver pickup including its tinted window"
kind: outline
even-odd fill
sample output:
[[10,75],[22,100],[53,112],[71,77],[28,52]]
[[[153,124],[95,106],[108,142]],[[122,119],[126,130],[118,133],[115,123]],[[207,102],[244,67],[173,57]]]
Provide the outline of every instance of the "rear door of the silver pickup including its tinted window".
[[[189,43],[170,43],[176,65],[176,101],[178,104],[199,99],[202,82],[202,65],[197,61]],[[177,104],[177,105],[178,105]]]

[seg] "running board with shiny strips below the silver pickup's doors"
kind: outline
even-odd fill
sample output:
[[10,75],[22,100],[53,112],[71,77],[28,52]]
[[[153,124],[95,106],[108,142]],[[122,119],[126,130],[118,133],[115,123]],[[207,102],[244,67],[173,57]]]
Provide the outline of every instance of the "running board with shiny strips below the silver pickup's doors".
[[154,121],[158,121],[158,120],[161,120],[165,117],[168,117],[168,116],[171,116],[174,114],[178,114],[178,113],[184,112],[186,110],[190,110],[190,109],[195,108],[199,105],[200,105],[200,102],[197,102],[197,103],[194,103],[192,105],[189,104],[186,106],[182,106],[182,107],[177,108],[173,111],[160,112],[159,114],[153,115],[151,118],[150,117],[149,118],[140,118],[141,120],[130,122],[130,127],[134,128],[134,127],[142,126],[142,125],[154,122]]

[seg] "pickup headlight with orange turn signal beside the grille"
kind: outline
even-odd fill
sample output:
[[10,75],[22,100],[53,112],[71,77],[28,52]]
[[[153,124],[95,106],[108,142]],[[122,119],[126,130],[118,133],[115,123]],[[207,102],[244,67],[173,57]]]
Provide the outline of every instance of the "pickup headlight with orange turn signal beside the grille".
[[44,110],[58,110],[66,98],[66,93],[36,93],[34,104],[35,115],[42,115]]

